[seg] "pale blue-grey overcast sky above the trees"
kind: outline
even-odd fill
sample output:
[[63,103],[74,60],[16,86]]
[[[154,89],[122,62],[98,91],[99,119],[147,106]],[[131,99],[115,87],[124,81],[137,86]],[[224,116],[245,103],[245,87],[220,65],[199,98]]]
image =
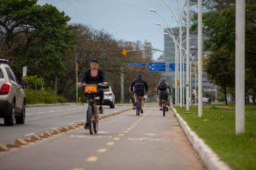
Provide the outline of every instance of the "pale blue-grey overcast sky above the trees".
[[[178,15],[176,0],[165,0]],[[178,0],[180,6],[183,0]],[[52,4],[64,11],[71,21],[69,23],[82,23],[98,30],[111,33],[117,40],[151,42],[153,48],[164,50],[163,28],[155,25],[160,22],[167,26],[161,17],[149,11],[156,9],[168,20],[170,25],[177,25],[170,9],[161,0],[38,0],[38,4]],[[154,52],[157,59],[161,52]]]

